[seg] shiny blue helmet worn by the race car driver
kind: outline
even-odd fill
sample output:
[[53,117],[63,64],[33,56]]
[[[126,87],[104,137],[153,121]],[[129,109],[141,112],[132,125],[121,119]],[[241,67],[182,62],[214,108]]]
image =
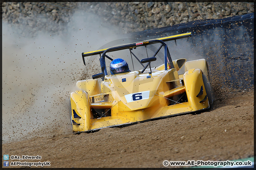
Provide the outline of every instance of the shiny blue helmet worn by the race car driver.
[[122,58],[116,58],[110,63],[110,73],[119,74],[129,72],[128,63]]

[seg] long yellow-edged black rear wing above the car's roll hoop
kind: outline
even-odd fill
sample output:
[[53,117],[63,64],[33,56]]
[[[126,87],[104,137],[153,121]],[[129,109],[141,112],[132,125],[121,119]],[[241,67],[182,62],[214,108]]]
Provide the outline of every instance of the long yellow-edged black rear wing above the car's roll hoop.
[[[184,34],[178,34],[178,35],[172,35],[172,36],[166,36],[166,37],[162,37],[162,38],[156,38],[156,39],[152,39],[152,40],[170,41],[170,40],[177,40],[177,39],[181,39],[181,38],[187,38],[187,37],[190,37],[190,36],[191,36],[191,32],[190,33],[184,33]],[[121,46],[115,46],[114,47],[115,50],[111,50],[111,51],[118,51],[118,50],[122,50],[122,49],[135,48],[135,47],[140,46],[140,45],[148,44],[149,41],[151,41],[151,40],[140,41],[140,42],[135,42],[135,43],[132,43],[132,44],[126,44],[126,45],[121,45]],[[83,52],[82,53],[83,61],[84,61],[84,57],[102,54],[105,50],[107,50],[107,49],[101,49],[101,50],[90,51],[90,52]]]

